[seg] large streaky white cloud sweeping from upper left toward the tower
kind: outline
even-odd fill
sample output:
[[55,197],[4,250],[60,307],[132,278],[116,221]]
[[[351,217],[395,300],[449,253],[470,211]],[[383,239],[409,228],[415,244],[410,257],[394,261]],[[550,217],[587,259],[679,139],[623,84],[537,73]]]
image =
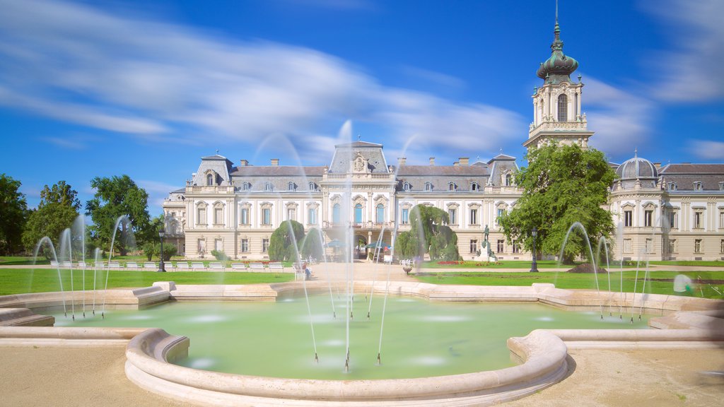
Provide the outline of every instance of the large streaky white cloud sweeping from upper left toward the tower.
[[[327,4],[320,1],[312,3]],[[514,112],[390,88],[312,49],[235,42],[61,1],[0,6],[0,104],[88,127],[188,143],[315,135],[327,146],[322,124],[352,118],[374,121],[388,145],[417,134],[441,151],[517,145],[525,128]]]

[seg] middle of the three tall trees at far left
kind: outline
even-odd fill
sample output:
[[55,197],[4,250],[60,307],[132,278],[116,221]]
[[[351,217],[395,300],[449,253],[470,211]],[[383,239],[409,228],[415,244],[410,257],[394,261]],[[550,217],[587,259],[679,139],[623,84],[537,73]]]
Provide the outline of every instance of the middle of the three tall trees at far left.
[[[30,214],[28,225],[22,233],[22,244],[28,251],[33,251],[43,236],[48,236],[56,251],[59,250],[60,234],[72,225],[80,210],[77,194],[65,181],[59,181],[52,187],[43,187],[38,209]],[[47,248],[43,249],[43,253],[50,258]]]

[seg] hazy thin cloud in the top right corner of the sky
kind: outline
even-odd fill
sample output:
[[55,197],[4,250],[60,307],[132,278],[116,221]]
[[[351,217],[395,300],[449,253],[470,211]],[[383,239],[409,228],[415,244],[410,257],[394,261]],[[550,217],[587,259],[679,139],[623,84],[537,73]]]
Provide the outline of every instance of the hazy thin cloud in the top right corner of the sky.
[[699,102],[724,98],[724,1],[649,0],[644,9],[662,20],[673,50],[652,55],[652,93],[665,101]]

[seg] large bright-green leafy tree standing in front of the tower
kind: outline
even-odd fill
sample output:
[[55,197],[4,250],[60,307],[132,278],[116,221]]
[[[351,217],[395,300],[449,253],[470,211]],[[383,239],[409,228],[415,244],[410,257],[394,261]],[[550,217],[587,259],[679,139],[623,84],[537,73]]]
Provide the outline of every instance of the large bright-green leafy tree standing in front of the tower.
[[[615,172],[601,151],[550,144],[529,151],[526,159],[529,167],[515,175],[523,195],[498,221],[509,243],[517,240],[531,250],[530,231],[536,227],[539,252],[559,253],[574,222],[584,225],[592,242],[611,235],[613,219],[602,206],[607,204]],[[581,233],[571,232],[563,261],[571,263],[584,250],[588,249]]]

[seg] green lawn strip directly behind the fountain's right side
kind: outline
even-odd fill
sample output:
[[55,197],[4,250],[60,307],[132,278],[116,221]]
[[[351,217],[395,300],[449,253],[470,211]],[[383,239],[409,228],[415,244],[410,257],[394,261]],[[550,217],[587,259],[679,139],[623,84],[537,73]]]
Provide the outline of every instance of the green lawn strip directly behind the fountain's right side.
[[[627,293],[633,292],[633,286],[636,283],[636,272],[626,271],[623,274],[623,290]],[[611,290],[620,291],[620,275],[618,272],[610,273]],[[636,293],[641,293],[644,282],[644,271],[639,271],[639,282],[636,283]],[[652,294],[674,294],[673,279],[677,274],[686,274],[694,281],[693,293],[696,297],[701,297],[702,292],[705,298],[723,299],[712,286],[717,290],[724,291],[724,271],[723,272],[651,272],[649,280],[645,288],[646,293]],[[697,279],[701,277],[702,284],[697,284]],[[529,286],[534,282],[550,282],[555,284],[557,288],[571,288],[583,290],[595,290],[596,278],[594,274],[578,274],[578,273],[555,273],[555,272],[439,272],[417,274],[416,278],[421,282],[429,282],[431,284],[456,284],[456,285],[524,285]],[[711,281],[713,280],[713,281]],[[608,290],[607,274],[598,275],[599,288]]]

